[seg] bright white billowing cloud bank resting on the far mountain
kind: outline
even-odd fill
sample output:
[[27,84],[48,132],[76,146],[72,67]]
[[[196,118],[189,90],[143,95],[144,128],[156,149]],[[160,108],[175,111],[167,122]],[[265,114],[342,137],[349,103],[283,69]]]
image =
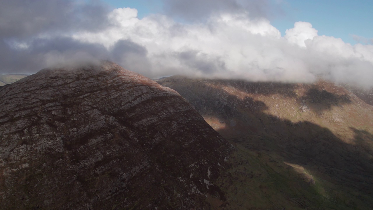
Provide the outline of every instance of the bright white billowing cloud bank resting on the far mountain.
[[[115,14],[115,15],[114,15]],[[74,38],[106,47],[130,39],[147,50],[145,75],[172,74],[241,78],[254,81],[311,82],[318,76],[372,86],[371,45],[344,43],[318,35],[308,22],[296,22],[284,37],[265,18],[242,13],[212,15],[205,23],[182,24],[166,15],[136,18],[136,10],[114,10],[120,24]],[[131,70],[131,66],[127,66]]]

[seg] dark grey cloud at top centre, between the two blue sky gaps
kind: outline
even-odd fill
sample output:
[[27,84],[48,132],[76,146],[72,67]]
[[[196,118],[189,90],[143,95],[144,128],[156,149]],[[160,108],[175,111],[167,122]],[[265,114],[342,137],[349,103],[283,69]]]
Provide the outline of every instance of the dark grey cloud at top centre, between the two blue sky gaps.
[[214,13],[243,13],[251,18],[267,17],[270,13],[268,0],[163,0],[166,14],[196,21]]

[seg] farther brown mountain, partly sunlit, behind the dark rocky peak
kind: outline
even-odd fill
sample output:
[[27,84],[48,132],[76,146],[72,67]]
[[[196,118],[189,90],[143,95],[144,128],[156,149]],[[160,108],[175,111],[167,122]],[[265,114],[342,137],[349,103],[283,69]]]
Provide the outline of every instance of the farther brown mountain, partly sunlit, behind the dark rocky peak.
[[325,200],[373,208],[373,106],[344,87],[182,76],[158,83],[179,92],[231,142],[303,170]]

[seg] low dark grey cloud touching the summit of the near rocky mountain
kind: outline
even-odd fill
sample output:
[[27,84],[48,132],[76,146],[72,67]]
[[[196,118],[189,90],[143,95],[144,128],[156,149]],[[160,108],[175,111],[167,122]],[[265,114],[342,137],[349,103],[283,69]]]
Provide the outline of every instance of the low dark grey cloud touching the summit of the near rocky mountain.
[[3,73],[32,73],[46,67],[85,64],[101,59],[114,61],[142,74],[150,69],[146,48],[131,40],[119,40],[110,49],[70,37],[37,38],[28,44],[27,49],[15,50],[0,42]]

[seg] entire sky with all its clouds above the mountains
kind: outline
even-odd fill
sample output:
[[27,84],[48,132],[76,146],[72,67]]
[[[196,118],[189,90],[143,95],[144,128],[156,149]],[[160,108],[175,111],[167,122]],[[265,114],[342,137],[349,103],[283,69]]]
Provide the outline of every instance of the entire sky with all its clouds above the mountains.
[[0,0],[0,73],[107,59],[150,78],[373,87],[368,0]]

